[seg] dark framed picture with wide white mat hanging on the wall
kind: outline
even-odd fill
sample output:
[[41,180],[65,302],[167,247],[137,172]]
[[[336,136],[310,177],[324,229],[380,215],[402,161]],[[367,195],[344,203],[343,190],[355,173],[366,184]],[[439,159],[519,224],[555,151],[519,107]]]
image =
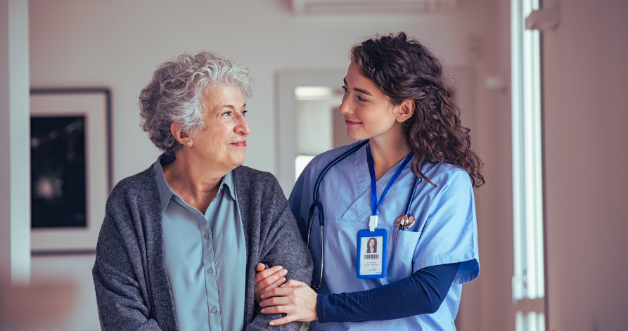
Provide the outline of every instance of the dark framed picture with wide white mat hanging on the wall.
[[31,89],[31,251],[96,251],[112,188],[109,89]]

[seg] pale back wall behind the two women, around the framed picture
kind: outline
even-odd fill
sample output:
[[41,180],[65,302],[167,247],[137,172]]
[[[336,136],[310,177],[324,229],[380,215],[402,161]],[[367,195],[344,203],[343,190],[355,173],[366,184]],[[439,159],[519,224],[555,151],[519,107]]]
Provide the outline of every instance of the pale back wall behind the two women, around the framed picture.
[[[475,72],[473,108],[478,115],[473,116],[471,126],[487,164],[487,185],[477,191],[476,199],[482,273],[463,287],[456,323],[460,330],[513,329],[508,316],[512,275],[510,110],[499,108],[503,107],[500,98],[507,96],[482,88],[487,74],[508,75],[500,72],[496,56],[496,27],[508,29],[508,8],[506,25],[498,25],[496,16],[504,11],[494,4],[504,1],[459,0],[458,10],[451,14],[311,16],[292,15],[287,2],[31,0],[31,85],[110,87],[117,182],[146,169],[158,156],[139,129],[137,106],[139,91],[155,67],[183,51],[219,51],[248,65],[256,82],[254,96],[247,101],[252,134],[245,164],[275,171],[276,72],[344,70],[350,46],[374,32],[404,30],[423,39],[447,65],[470,67]],[[479,56],[467,51],[469,35],[480,37]],[[70,308],[60,310],[46,330],[98,330],[94,293],[89,287],[93,257],[38,257],[32,264],[37,284],[50,278],[56,284],[51,287],[65,288],[74,298],[63,301],[69,302]],[[64,270],[70,266],[75,271]],[[48,277],[49,272],[56,276]],[[38,304],[54,306],[56,301],[52,296],[40,297]]]

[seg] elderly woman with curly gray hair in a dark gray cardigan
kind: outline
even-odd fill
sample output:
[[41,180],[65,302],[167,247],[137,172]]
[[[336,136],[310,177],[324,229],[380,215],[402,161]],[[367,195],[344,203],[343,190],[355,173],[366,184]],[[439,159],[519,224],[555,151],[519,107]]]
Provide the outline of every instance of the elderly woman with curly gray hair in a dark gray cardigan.
[[255,266],[310,282],[277,180],[241,165],[250,94],[245,67],[207,52],[162,63],[141,91],[142,128],[164,154],[107,201],[93,269],[103,330],[269,329],[281,316],[259,313]]

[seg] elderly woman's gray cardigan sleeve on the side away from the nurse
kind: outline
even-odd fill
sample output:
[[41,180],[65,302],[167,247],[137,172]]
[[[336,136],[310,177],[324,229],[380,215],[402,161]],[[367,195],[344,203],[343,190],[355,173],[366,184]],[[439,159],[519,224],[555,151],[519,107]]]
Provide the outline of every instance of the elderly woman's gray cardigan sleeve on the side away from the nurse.
[[150,308],[146,304],[148,291],[142,285],[143,275],[138,277],[133,258],[129,255],[129,250],[139,249],[129,245],[132,240],[124,240],[122,235],[133,236],[132,229],[120,229],[110,202],[98,235],[96,262],[92,269],[101,328],[162,330],[157,320],[150,316]]

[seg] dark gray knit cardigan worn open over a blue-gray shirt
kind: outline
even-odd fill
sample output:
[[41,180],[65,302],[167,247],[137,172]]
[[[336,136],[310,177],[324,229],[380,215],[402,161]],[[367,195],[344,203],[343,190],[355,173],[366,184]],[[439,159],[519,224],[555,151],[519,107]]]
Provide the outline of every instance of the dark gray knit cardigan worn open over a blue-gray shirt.
[[[281,315],[259,313],[253,293],[258,262],[283,266],[288,279],[312,280],[312,258],[288,201],[272,174],[240,166],[233,176],[246,243],[245,330],[298,330],[297,322],[269,326]],[[151,166],[117,183],[107,200],[92,269],[103,330],[178,330],[164,261]]]

